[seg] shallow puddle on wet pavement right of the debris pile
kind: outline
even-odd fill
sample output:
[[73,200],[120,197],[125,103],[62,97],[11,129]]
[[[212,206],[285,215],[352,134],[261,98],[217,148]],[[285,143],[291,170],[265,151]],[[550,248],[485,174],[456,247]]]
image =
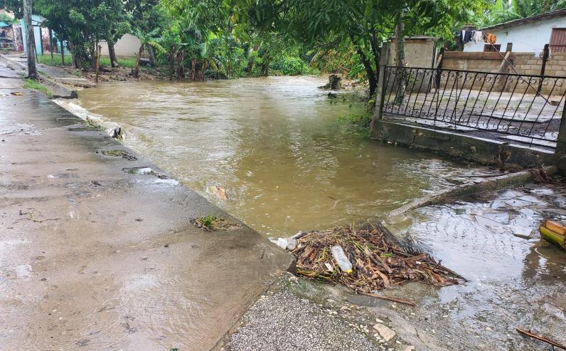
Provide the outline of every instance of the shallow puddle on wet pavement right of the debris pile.
[[416,315],[405,313],[407,320],[427,325],[449,350],[550,350],[516,328],[565,344],[566,255],[538,234],[543,218],[566,221],[565,195],[560,185],[528,184],[393,221],[390,229],[398,236],[468,279],[441,289],[412,284],[397,291],[420,301]]

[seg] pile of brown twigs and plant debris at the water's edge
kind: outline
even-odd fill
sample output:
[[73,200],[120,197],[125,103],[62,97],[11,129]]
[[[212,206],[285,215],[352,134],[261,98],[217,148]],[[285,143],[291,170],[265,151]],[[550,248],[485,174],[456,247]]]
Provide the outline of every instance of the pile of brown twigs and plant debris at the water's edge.
[[[351,273],[339,268],[333,258],[333,246],[346,253],[353,268]],[[289,251],[297,257],[297,274],[346,285],[365,295],[405,281],[437,286],[464,281],[426,253],[401,248],[393,241],[393,234],[380,224],[311,231],[297,238],[297,247]]]

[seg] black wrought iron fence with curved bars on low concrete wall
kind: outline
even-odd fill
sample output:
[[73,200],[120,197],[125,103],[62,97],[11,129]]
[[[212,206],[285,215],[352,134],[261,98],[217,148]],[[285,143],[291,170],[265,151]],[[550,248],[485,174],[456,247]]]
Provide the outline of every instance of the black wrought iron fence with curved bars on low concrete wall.
[[555,147],[566,77],[385,68],[383,118]]

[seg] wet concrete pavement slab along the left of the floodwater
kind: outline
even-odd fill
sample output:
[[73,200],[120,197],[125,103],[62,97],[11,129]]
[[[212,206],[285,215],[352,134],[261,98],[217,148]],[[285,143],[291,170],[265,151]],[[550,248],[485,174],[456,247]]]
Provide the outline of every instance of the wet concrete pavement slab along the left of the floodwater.
[[214,347],[291,257],[242,224],[192,226],[230,216],[21,87],[0,78],[0,349]]

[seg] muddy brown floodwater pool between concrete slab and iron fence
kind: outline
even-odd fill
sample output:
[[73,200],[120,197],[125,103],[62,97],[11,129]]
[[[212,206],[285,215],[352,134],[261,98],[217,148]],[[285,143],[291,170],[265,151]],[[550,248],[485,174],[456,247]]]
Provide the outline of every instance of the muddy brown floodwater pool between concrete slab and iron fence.
[[372,219],[446,184],[451,162],[369,140],[345,121],[363,112],[360,96],[331,101],[325,83],[105,83],[80,102],[188,187],[224,187],[219,206],[267,236]]

